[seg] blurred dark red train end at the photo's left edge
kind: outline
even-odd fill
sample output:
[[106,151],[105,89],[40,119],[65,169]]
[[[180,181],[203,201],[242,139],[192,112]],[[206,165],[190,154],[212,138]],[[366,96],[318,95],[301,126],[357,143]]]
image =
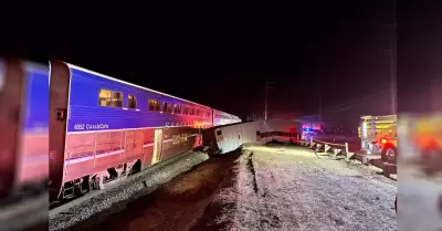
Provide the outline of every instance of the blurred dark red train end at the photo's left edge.
[[23,86],[21,64],[0,61],[0,199],[14,188]]

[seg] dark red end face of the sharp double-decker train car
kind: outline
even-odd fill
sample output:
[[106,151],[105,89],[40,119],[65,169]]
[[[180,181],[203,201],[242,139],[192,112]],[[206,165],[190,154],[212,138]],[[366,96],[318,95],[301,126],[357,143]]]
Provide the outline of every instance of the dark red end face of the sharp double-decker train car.
[[59,198],[63,183],[70,84],[69,67],[62,62],[51,62],[49,114],[51,201]]

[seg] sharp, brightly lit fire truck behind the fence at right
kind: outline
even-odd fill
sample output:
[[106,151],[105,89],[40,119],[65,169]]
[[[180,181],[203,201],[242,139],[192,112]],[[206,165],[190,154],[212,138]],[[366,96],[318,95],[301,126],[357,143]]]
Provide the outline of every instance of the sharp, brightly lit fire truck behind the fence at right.
[[361,116],[359,137],[361,149],[367,154],[380,154],[381,159],[397,164],[398,123],[397,115]]

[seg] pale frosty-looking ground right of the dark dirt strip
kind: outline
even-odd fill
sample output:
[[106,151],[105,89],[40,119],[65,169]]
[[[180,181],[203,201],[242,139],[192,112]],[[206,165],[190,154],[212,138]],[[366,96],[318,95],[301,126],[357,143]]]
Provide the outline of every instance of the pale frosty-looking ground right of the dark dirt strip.
[[[217,201],[228,230],[397,230],[396,181],[301,147],[249,147]],[[379,176],[381,177],[381,176]]]

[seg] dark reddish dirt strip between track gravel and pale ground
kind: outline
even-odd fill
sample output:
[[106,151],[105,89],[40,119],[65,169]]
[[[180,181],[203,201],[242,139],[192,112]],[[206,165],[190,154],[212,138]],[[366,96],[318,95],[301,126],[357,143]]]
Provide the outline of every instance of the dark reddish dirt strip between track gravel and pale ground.
[[220,230],[224,224],[210,224],[221,211],[212,198],[233,185],[232,169],[239,156],[240,151],[211,157],[119,212],[88,219],[69,230]]

